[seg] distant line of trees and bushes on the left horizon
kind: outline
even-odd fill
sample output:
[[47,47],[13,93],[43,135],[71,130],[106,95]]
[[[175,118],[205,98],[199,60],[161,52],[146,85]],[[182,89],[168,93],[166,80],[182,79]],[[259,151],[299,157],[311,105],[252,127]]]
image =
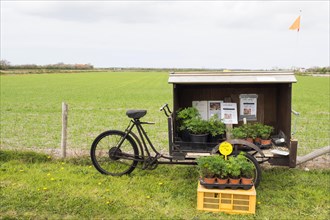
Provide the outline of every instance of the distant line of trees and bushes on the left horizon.
[[91,64],[66,64],[56,63],[47,65],[36,65],[36,64],[23,64],[23,65],[11,65],[7,60],[0,60],[0,70],[10,69],[58,69],[58,70],[90,70],[94,69]]

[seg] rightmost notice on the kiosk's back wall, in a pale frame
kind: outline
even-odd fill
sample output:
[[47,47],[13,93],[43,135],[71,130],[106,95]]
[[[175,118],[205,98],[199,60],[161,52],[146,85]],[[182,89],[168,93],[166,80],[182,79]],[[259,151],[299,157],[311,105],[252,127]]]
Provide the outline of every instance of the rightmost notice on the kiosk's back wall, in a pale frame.
[[241,94],[240,98],[240,114],[239,119],[247,120],[257,119],[257,98],[256,94]]

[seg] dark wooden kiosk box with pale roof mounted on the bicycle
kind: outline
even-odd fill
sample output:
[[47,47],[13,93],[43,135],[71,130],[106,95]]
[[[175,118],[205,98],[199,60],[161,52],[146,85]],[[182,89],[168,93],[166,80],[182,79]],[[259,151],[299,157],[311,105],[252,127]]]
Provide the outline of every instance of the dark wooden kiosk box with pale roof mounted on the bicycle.
[[[273,165],[295,167],[297,141],[291,140],[292,72],[178,72],[169,75],[173,84],[173,112],[192,106],[193,101],[215,101],[237,104],[237,124],[243,120],[260,122],[275,128],[285,139],[288,155],[270,153],[256,146],[254,157]],[[252,117],[242,115],[242,97],[253,97]],[[244,119],[246,118],[246,119]],[[228,139],[228,138],[227,138]],[[169,152],[178,160],[187,159],[189,152],[211,152],[217,143],[194,144],[182,140],[175,119],[169,120]]]

